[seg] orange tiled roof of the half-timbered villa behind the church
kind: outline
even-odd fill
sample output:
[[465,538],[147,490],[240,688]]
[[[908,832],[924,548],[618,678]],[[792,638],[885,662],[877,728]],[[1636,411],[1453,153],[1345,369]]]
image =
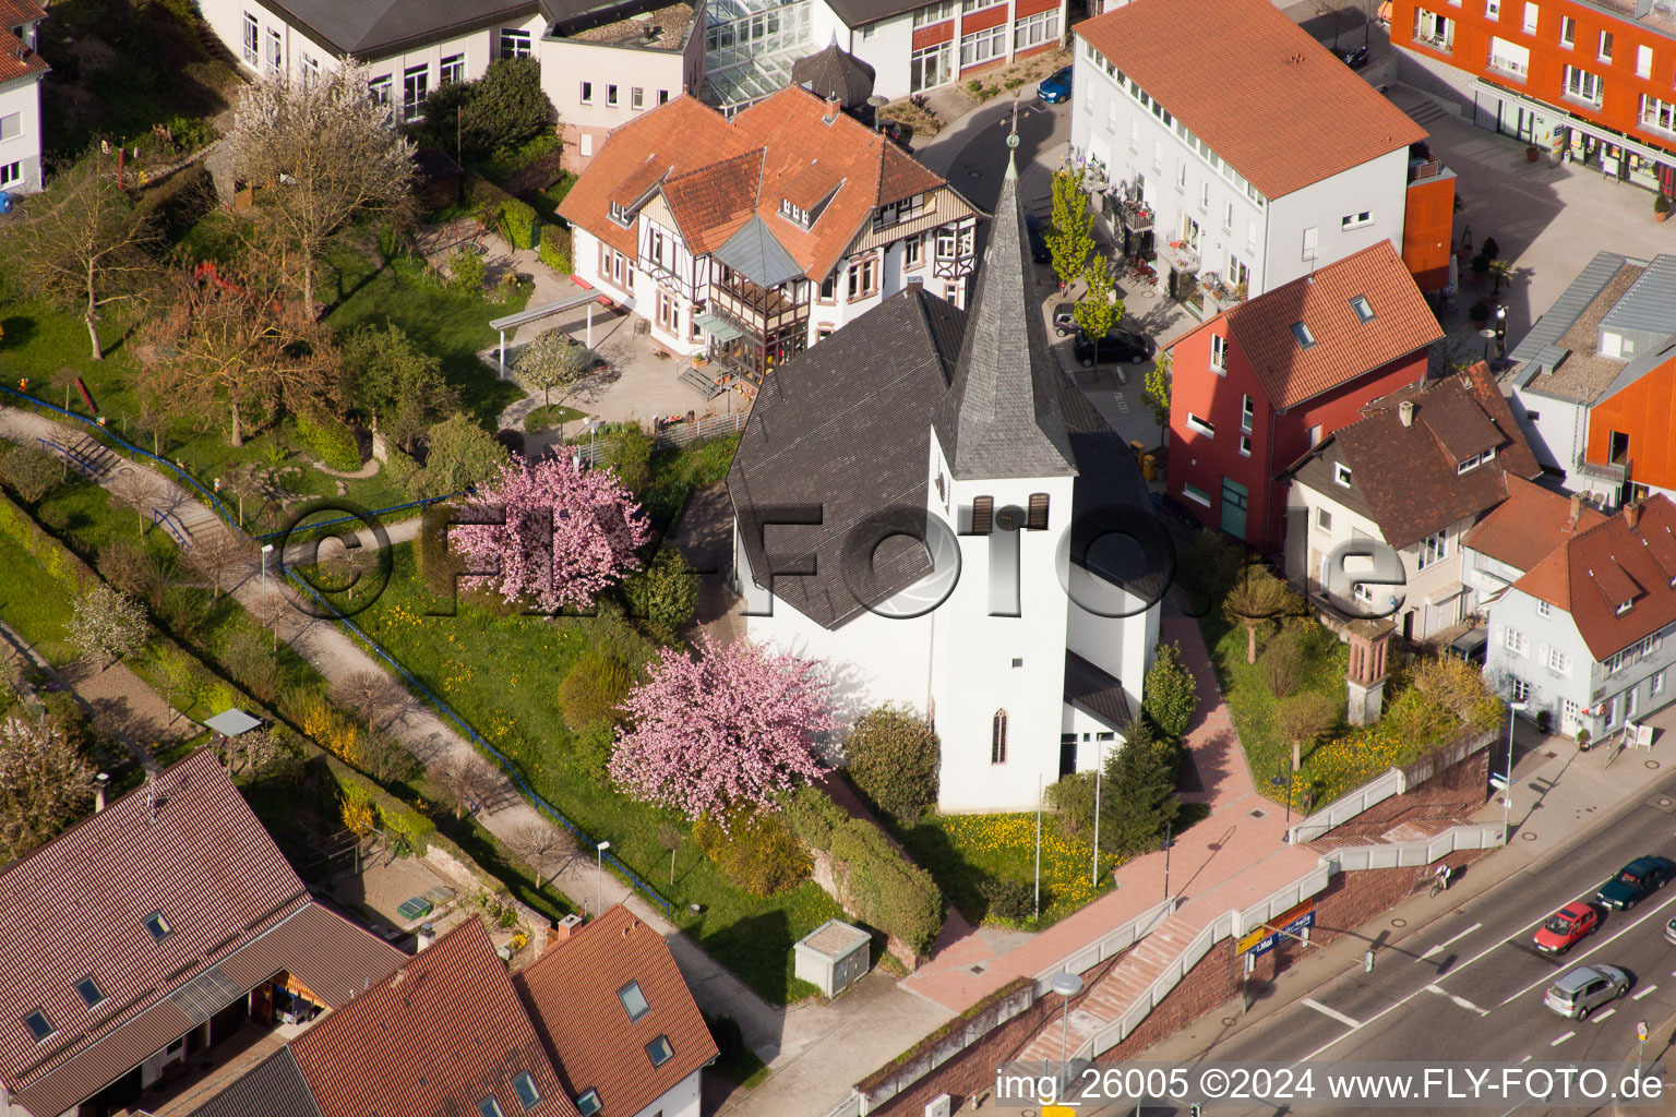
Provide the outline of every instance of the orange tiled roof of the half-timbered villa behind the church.
[[[947,189],[873,129],[789,85],[732,121],[696,97],[675,97],[613,129],[560,213],[634,255],[639,218],[623,228],[612,221],[608,204],[632,204],[659,183],[692,251],[714,251],[754,213],[816,281],[872,229],[880,204]],[[779,213],[793,183],[799,198],[831,198],[808,229]]]

